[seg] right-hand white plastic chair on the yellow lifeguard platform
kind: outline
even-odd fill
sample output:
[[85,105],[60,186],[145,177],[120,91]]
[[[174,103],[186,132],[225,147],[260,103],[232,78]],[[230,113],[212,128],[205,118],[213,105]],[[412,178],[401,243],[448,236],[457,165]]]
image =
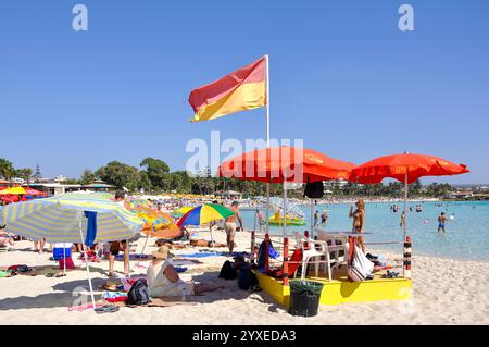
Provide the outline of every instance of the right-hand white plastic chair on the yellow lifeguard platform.
[[317,231],[317,239],[326,243],[327,256],[325,265],[328,271],[328,278],[331,281],[333,271],[348,264],[348,236]]

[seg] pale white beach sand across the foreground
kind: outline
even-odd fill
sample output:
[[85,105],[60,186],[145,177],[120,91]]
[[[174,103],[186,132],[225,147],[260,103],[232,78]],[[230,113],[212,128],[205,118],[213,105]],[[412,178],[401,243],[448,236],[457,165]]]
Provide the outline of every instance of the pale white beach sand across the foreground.
[[[218,241],[225,238],[223,232],[215,232],[214,237]],[[142,241],[139,241],[140,247]],[[244,250],[249,234],[238,233],[237,241],[238,250]],[[0,265],[55,264],[49,261],[50,253],[38,255],[30,251],[30,247],[32,243],[16,243],[18,250],[0,253]],[[154,249],[149,248],[147,252]],[[236,281],[218,280],[225,259],[199,258],[203,264],[191,265],[181,274],[184,280],[226,286],[223,290],[192,298],[196,305],[122,308],[106,314],[67,310],[79,299],[72,295],[73,289],[88,288],[84,268],[60,278],[45,275],[0,278],[0,324],[489,324],[489,263],[415,256],[412,300],[323,306],[314,318],[297,318],[264,292],[249,294],[240,290]],[[83,265],[79,260],[75,260],[75,264]],[[131,264],[134,268],[135,262]],[[92,264],[96,288],[104,283],[106,269],[106,261]],[[116,262],[116,269],[122,270],[122,261]],[[146,273],[145,269],[134,269],[136,275]],[[100,297],[102,292],[97,288],[96,293]]]

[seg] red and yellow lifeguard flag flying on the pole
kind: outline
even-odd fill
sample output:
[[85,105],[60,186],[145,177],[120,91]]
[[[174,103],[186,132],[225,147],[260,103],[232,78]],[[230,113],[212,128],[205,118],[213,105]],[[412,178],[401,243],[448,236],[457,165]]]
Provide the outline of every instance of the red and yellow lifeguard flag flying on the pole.
[[193,108],[191,122],[266,106],[266,57],[221,79],[193,89],[188,101]]

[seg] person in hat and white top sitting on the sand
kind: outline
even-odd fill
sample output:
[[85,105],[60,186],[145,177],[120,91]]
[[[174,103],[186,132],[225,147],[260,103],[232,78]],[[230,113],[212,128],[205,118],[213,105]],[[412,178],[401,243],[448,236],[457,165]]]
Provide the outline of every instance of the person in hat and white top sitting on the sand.
[[152,252],[153,261],[147,271],[148,290],[153,298],[180,297],[186,295],[199,295],[205,292],[214,292],[224,288],[223,285],[204,285],[180,280],[171,258],[168,247],[162,246]]

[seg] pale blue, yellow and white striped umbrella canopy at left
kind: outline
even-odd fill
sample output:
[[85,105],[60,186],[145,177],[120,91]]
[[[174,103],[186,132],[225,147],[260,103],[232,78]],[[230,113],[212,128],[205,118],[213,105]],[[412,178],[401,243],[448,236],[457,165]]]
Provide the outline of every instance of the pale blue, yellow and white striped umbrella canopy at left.
[[2,221],[5,231],[14,235],[46,238],[49,243],[79,243],[80,230],[86,233],[88,224],[84,212],[97,212],[95,241],[130,239],[143,227],[137,214],[106,197],[77,193],[8,205]]

